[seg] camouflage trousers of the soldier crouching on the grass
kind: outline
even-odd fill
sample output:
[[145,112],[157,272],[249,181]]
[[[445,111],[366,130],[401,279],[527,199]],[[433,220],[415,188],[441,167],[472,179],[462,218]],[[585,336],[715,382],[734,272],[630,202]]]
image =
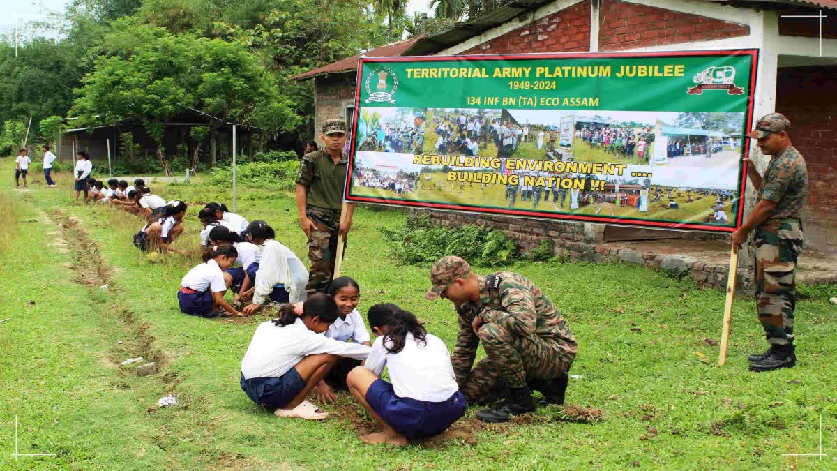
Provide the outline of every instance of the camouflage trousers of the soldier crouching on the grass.
[[553,339],[511,334],[497,323],[483,324],[479,335],[488,358],[477,363],[460,385],[469,402],[486,404],[503,399],[508,388],[556,378],[573,363]]

